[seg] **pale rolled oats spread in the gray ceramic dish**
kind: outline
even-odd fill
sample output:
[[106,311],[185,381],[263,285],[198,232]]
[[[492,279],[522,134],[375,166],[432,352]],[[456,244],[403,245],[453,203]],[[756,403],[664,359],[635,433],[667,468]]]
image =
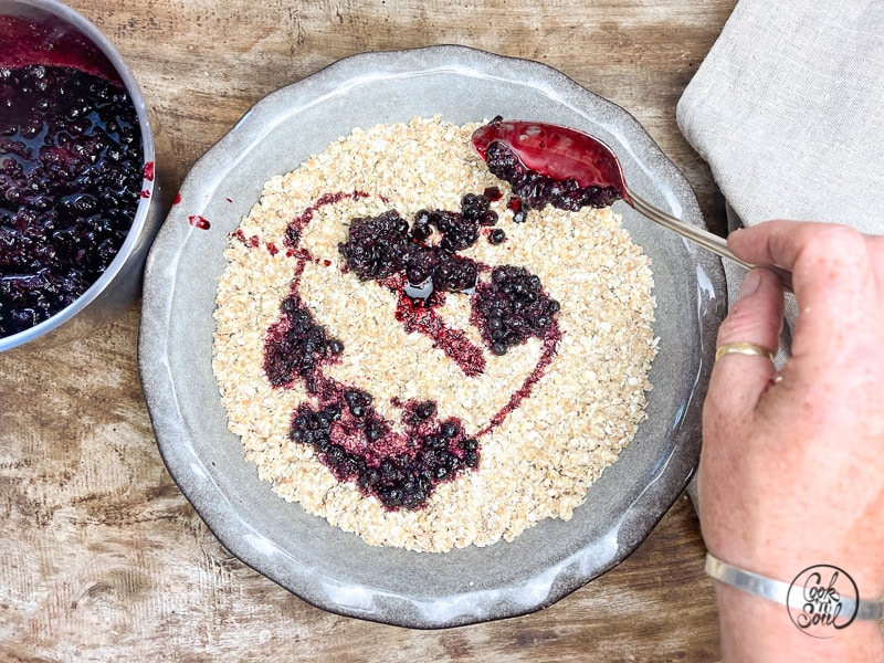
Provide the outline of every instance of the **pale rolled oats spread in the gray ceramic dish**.
[[[371,545],[445,551],[513,540],[544,518],[567,520],[645,417],[657,347],[649,259],[610,209],[547,207],[514,223],[508,185],[472,149],[478,126],[415,117],[354,129],[266,182],[224,253],[213,369],[230,430],[280,496]],[[396,295],[341,270],[337,248],[355,217],[396,209],[410,221],[421,209],[459,211],[465,193],[494,186],[504,192],[492,209],[507,240],[495,246],[483,236],[462,253],[541,278],[561,304],[557,355],[518,409],[478,438],[476,471],[440,483],[422,508],[388,512],[355,484],[336,481],[312,446],[290,440],[292,412],[311,397],[301,383],[273,388],[264,375],[265,334],[280,319],[297,264],[285,251],[285,230],[324,194],[368,194],[318,206],[301,238],[313,257],[299,276],[301,297],[345,347],[324,371],[372,393],[390,421],[401,419],[394,403],[432,400],[441,419],[455,417],[476,435],[537,365],[541,341],[532,338],[503,357],[485,348],[486,370],[467,378],[427,336],[406,334],[393,317]],[[441,315],[485,347],[469,322],[469,295],[449,295]]]

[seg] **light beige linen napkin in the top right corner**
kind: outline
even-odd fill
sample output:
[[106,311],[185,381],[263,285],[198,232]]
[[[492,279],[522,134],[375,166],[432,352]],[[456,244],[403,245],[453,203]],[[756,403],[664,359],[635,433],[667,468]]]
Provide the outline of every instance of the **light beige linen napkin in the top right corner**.
[[[884,1],[740,0],[677,120],[732,228],[802,219],[884,234]],[[745,271],[723,262],[733,301]]]

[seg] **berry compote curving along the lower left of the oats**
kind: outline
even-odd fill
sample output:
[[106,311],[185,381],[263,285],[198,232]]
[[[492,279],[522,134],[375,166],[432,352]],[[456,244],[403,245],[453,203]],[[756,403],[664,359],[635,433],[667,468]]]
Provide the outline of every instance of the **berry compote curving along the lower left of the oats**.
[[290,438],[309,444],[338,481],[352,481],[388,509],[422,506],[434,486],[478,466],[478,441],[457,419],[440,420],[435,403],[402,407],[401,431],[379,414],[367,391],[326,377],[344,344],[329,338],[296,288],[283,299],[282,315],[267,332],[264,371],[274,387],[301,381],[317,404],[292,414]]

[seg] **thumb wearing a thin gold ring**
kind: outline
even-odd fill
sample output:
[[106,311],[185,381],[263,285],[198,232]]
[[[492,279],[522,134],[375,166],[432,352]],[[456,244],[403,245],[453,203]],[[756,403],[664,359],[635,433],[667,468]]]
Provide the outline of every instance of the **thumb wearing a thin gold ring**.
[[[718,348],[751,344],[776,354],[782,325],[782,285],[764,267],[743,280],[739,296],[718,328]],[[776,367],[762,355],[726,354],[715,361],[706,404],[724,421],[741,420],[751,412],[770,383]]]

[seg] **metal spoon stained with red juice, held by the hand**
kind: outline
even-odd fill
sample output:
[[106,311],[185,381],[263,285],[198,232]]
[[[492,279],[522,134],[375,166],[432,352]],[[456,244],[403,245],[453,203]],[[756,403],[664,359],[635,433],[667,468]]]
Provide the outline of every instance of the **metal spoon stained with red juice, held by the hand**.
[[[751,270],[757,265],[737,257],[727,241],[696,225],[685,223],[638,196],[627,186],[623,169],[614,152],[598,138],[554,124],[527,120],[505,120],[496,117],[473,134],[473,147],[487,161],[488,147],[498,143],[507,147],[522,165],[556,181],[575,180],[581,189],[599,191],[602,200],[620,198],[651,221],[660,223],[683,238]],[[495,173],[501,177],[499,173]],[[504,177],[504,179],[506,179]],[[511,182],[511,185],[514,182]],[[555,201],[550,201],[556,204]],[[791,290],[791,273],[782,267],[768,266]]]

